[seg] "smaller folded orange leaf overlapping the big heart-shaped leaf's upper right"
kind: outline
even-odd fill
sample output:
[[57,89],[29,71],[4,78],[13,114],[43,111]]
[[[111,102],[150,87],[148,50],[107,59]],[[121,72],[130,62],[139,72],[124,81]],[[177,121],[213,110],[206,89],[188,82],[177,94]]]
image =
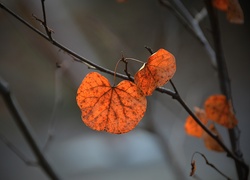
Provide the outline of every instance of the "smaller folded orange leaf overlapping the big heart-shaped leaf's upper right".
[[176,71],[174,56],[165,49],[152,54],[147,63],[135,74],[135,84],[144,95],[152,95],[153,91],[167,83]]

